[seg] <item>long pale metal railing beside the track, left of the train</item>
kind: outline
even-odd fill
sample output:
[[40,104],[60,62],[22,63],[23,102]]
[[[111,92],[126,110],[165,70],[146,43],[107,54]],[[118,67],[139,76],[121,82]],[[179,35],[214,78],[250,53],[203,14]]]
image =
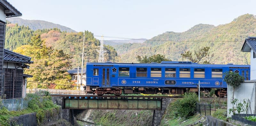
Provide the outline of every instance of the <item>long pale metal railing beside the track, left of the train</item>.
[[26,93],[35,93],[37,91],[48,91],[50,94],[78,94],[78,95],[86,95],[84,90],[63,90],[63,89],[28,89]]

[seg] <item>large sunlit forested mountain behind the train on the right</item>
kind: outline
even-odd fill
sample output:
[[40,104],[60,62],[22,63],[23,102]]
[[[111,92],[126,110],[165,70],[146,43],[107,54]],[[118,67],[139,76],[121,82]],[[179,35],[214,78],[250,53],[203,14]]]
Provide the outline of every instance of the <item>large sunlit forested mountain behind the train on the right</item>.
[[186,32],[165,32],[142,44],[115,45],[114,48],[122,62],[137,62],[137,55],[154,54],[164,54],[173,61],[182,60],[181,53],[210,46],[210,52],[215,54],[215,64],[250,64],[250,54],[241,52],[248,36],[256,36],[256,18],[245,14],[228,24],[198,24]]

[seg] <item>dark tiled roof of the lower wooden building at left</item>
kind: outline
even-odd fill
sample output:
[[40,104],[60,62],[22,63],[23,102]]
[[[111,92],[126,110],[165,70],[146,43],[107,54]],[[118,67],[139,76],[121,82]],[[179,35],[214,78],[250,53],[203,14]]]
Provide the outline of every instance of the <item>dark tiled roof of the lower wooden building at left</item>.
[[31,57],[21,55],[19,53],[12,52],[8,49],[4,49],[4,61],[15,63],[33,63],[30,61]]

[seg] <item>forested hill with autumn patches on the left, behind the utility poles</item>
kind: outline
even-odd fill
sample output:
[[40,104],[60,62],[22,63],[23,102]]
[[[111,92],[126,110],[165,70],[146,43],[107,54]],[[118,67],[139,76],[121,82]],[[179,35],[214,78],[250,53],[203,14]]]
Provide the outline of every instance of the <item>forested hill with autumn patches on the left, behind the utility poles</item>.
[[[63,50],[65,54],[71,55],[71,66],[81,66],[81,54],[83,45],[83,32],[61,32],[60,29],[43,29],[31,30],[28,26],[20,26],[18,24],[6,25],[5,48],[14,50],[22,45],[28,45],[31,42],[31,36],[40,35],[47,47],[52,47],[55,50]],[[85,50],[84,62],[97,62],[100,41],[95,39],[92,32],[85,31]],[[20,48],[22,50],[22,48]],[[117,56],[116,50],[112,46],[105,45],[106,61],[118,62],[120,58]],[[30,56],[24,52],[25,55]],[[33,58],[33,57],[32,57]],[[80,63],[79,63],[80,59]],[[33,59],[32,59],[33,61]]]

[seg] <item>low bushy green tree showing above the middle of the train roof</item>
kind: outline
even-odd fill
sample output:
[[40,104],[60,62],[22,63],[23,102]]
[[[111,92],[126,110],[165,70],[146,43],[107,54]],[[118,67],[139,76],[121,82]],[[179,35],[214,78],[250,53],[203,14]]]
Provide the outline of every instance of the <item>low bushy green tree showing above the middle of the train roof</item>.
[[150,57],[137,56],[136,59],[137,59],[137,61],[139,61],[139,63],[152,63],[152,62],[161,63],[162,61],[172,61],[172,60],[165,58],[165,56],[161,55],[161,54],[156,54],[156,55],[153,55]]

